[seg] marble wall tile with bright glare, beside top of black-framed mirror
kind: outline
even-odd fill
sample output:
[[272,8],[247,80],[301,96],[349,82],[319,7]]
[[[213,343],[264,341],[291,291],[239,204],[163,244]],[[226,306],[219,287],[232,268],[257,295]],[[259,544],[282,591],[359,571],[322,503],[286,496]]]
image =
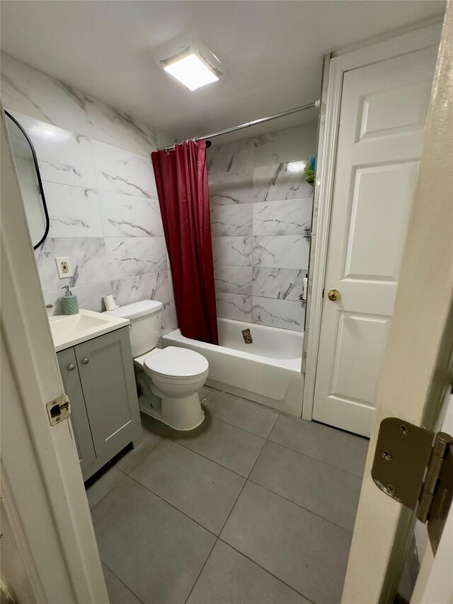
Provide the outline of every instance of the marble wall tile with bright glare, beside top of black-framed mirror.
[[11,111],[27,132],[38,156],[42,181],[96,188],[88,137]]

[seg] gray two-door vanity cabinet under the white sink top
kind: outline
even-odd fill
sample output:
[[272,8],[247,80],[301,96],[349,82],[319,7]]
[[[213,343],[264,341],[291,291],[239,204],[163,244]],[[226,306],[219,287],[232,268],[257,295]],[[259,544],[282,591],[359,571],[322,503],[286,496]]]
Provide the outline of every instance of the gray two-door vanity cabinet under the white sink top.
[[129,329],[110,331],[57,356],[86,480],[127,444],[142,440]]

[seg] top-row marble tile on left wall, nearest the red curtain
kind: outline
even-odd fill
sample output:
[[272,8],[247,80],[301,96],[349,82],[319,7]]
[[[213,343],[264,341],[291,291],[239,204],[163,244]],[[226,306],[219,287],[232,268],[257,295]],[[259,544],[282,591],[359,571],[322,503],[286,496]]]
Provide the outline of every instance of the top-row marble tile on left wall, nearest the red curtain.
[[88,135],[139,155],[149,156],[158,146],[157,135],[144,122],[85,95]]

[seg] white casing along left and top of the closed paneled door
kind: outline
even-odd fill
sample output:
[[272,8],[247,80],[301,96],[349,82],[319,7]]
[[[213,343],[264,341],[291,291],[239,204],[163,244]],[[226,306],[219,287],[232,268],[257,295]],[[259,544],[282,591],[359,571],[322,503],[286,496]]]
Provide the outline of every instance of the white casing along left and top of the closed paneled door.
[[[304,395],[302,402],[302,419],[313,418],[314,389],[318,365],[319,338],[323,307],[323,288],[326,280],[329,232],[331,227],[331,210],[333,188],[335,185],[336,152],[338,144],[338,127],[340,123],[341,96],[343,93],[343,76],[345,72],[359,69],[373,63],[407,55],[416,50],[438,46],[442,34],[442,22],[382,40],[367,47],[351,52],[334,53],[328,64],[326,103],[321,103],[324,132],[317,150],[316,186],[314,207],[317,208],[316,224],[312,227],[311,252],[311,290],[309,292],[308,331],[304,337],[306,343],[306,362]],[[322,122],[321,122],[322,123]],[[310,278],[310,275],[309,275]]]

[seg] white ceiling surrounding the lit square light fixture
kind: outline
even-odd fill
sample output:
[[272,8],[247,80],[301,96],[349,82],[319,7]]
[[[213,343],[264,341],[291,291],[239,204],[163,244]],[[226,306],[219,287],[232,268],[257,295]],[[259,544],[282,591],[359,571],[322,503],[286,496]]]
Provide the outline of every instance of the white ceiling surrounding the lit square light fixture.
[[[183,139],[310,103],[326,52],[444,10],[438,0],[2,0],[1,50]],[[156,64],[188,38],[225,72],[194,92]]]

